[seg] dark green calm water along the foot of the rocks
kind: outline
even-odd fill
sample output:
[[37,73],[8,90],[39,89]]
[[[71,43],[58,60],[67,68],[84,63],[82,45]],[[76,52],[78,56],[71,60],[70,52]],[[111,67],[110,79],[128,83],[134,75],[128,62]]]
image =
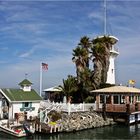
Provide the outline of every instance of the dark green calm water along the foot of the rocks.
[[[0,140],[15,139],[0,132]],[[114,125],[94,128],[72,133],[59,133],[53,135],[35,134],[32,137],[17,140],[97,140],[97,139],[131,139],[140,140],[140,124],[132,126]]]

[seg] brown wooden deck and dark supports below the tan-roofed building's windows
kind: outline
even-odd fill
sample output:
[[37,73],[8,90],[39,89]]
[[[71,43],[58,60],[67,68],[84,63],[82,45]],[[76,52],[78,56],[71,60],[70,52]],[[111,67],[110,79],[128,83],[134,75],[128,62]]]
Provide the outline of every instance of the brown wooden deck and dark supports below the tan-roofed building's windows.
[[122,104],[119,106],[104,104],[102,110],[97,112],[102,112],[104,117],[106,115],[113,117],[115,122],[130,125],[140,122],[140,111],[138,111],[137,106],[137,104]]

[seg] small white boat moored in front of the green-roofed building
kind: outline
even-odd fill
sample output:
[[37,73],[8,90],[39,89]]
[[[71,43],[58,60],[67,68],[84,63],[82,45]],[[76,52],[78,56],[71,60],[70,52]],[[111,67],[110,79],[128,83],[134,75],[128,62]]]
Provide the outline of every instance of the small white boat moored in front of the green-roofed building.
[[5,132],[15,137],[25,137],[35,132],[34,129],[30,129],[25,124],[8,125],[7,123],[3,123],[2,121],[0,121],[0,131]]

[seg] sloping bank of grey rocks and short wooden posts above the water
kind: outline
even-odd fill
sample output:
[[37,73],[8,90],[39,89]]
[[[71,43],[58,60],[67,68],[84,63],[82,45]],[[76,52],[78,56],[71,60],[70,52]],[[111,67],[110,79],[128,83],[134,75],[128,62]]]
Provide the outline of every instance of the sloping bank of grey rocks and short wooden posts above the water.
[[[59,112],[60,113],[60,112]],[[104,120],[102,114],[95,111],[73,112],[70,115],[66,112],[61,112],[61,119],[51,123],[41,123],[42,133],[55,133],[55,132],[75,132],[97,127],[104,127],[116,124],[112,118]]]

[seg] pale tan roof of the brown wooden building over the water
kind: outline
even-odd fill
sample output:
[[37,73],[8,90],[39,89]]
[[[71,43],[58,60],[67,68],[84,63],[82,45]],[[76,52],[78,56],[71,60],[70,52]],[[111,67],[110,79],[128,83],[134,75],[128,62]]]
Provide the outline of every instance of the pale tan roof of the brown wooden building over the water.
[[91,93],[140,93],[140,89],[126,86],[112,86],[108,88],[92,90]]

